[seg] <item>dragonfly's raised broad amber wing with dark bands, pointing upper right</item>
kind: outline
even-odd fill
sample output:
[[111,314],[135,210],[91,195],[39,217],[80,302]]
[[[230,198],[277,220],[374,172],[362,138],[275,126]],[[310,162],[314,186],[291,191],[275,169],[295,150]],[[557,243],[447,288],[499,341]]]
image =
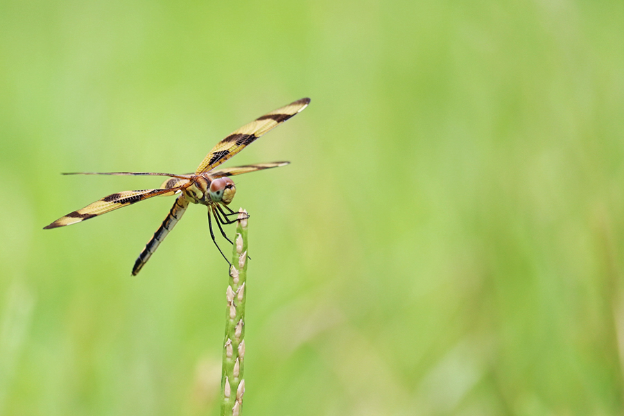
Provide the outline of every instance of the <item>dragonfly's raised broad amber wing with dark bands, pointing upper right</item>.
[[245,146],[248,146],[261,135],[265,134],[272,128],[277,127],[284,121],[302,111],[310,103],[310,98],[302,98],[290,103],[284,107],[278,108],[268,114],[258,117],[251,123],[243,125],[232,132],[225,139],[221,140],[214,146],[210,153],[202,160],[198,166],[196,173],[208,172],[219,166],[230,157],[239,153]]

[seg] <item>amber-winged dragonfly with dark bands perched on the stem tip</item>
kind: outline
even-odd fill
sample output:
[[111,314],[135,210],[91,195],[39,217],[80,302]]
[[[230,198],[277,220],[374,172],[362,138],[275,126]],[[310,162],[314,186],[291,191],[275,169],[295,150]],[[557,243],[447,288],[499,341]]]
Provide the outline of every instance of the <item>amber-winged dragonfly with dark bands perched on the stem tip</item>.
[[[166,176],[166,179],[158,189],[141,189],[138,191],[123,191],[112,193],[100,200],[96,200],[92,204],[82,209],[72,211],[66,216],[62,216],[55,220],[44,229],[64,227],[80,223],[89,218],[94,218],[107,212],[113,211],[121,207],[135,204],[137,202],[153,198],[155,196],[172,196],[177,194],[173,207],[169,210],[166,218],[156,230],[152,238],[148,241],[141,254],[135,261],[132,268],[132,275],[136,276],[145,263],[150,259],[156,251],[160,243],[165,239],[167,234],[171,232],[175,224],[182,218],[182,214],[187,210],[189,204],[201,204],[208,207],[208,226],[210,236],[219,252],[229,263],[225,254],[216,242],[214,231],[212,228],[212,218],[218,225],[221,235],[225,237],[229,243],[232,243],[223,231],[222,225],[232,224],[236,222],[238,212],[232,211],[228,207],[229,203],[234,199],[236,187],[231,176],[241,175],[243,173],[263,171],[264,169],[277,168],[286,166],[290,162],[271,162],[261,164],[249,164],[244,166],[235,166],[230,168],[216,169],[220,164],[239,153],[243,148],[252,144],[256,139],[276,128],[284,121],[295,116],[310,103],[310,98],[302,98],[294,101],[284,107],[280,107],[268,114],[258,117],[254,121],[243,125],[243,127],[232,132],[230,135],[221,140],[210,150],[208,155],[202,160],[197,167],[195,173],[187,173],[184,175],[175,175],[173,173],[157,173],[157,172],[74,172],[64,173],[64,175],[132,175],[132,176]],[[231,263],[229,263],[231,266]]]

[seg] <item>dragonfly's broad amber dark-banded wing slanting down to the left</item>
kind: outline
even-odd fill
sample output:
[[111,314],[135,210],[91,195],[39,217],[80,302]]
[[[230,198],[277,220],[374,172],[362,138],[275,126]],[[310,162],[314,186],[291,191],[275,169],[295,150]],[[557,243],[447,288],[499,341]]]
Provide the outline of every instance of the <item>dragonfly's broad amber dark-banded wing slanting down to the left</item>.
[[71,225],[80,223],[80,221],[88,220],[94,216],[106,214],[114,209],[132,205],[135,202],[146,200],[154,196],[159,195],[173,195],[175,191],[180,188],[171,189],[143,189],[141,191],[123,191],[118,193],[112,193],[109,196],[105,196],[101,200],[97,200],[92,204],[87,205],[83,209],[70,212],[66,216],[55,220],[53,223],[44,227],[44,229],[64,227],[65,225]]

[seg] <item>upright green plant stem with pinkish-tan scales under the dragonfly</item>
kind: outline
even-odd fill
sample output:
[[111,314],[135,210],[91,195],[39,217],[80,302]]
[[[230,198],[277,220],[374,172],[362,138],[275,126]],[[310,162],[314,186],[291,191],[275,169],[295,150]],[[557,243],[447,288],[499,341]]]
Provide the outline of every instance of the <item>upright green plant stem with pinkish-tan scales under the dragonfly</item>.
[[221,373],[221,416],[241,416],[245,380],[245,298],[247,297],[247,211],[239,210],[236,238],[232,249],[232,267],[225,292],[225,342]]

